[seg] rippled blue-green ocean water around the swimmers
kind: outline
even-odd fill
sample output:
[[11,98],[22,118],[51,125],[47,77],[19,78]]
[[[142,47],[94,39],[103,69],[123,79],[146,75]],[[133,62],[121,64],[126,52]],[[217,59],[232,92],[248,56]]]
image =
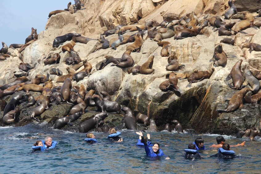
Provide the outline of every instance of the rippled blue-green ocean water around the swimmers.
[[[198,137],[205,141],[206,148],[216,143],[217,134],[196,135],[191,130],[177,132],[143,132],[151,135],[152,143],[160,143],[165,158],[146,157],[144,148],[138,147],[135,131],[122,130],[123,142],[111,143],[108,133],[93,132],[96,144],[84,142],[86,134],[53,129],[47,123],[31,123],[24,127],[0,127],[0,173],[260,173],[261,138],[254,141],[224,136],[226,143],[235,145],[246,141],[243,147],[231,150],[238,155],[234,159],[217,159],[208,156],[217,153],[208,148],[201,153],[202,160],[184,159],[188,144]],[[38,133],[45,133],[38,136]],[[55,149],[32,153],[31,146],[36,140],[52,136],[57,141]],[[34,137],[30,139],[27,137]]]

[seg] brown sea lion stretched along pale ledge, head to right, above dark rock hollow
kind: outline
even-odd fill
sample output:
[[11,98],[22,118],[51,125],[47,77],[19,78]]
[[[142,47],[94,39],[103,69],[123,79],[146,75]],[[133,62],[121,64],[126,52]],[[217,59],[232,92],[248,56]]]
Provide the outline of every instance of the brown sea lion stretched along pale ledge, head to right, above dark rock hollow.
[[210,68],[209,70],[206,71],[198,71],[196,73],[192,73],[188,77],[188,82],[189,84],[186,87],[191,87],[192,83],[197,83],[203,79],[209,79],[212,73],[214,72],[215,68]]

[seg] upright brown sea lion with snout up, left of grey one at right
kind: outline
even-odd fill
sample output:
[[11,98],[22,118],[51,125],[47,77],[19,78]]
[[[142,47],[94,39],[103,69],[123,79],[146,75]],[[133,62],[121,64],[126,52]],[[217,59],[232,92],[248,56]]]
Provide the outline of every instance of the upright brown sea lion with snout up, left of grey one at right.
[[226,81],[232,78],[233,86],[231,84],[228,84],[228,86],[231,87],[232,89],[236,89],[236,90],[242,89],[242,84],[243,84],[243,75],[241,72],[242,62],[243,62],[242,59],[237,61],[237,63],[235,63],[234,67],[230,71],[230,74],[226,77]]

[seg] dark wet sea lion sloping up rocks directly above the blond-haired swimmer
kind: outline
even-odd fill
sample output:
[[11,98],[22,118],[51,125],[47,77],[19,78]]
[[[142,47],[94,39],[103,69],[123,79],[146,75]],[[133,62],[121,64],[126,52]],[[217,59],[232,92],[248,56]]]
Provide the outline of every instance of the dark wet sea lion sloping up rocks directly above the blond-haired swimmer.
[[101,113],[96,114],[93,118],[88,119],[80,124],[79,132],[86,133],[95,127],[97,128],[99,122],[101,120],[104,120],[106,117],[108,117],[108,113],[106,113],[106,112],[101,112]]

